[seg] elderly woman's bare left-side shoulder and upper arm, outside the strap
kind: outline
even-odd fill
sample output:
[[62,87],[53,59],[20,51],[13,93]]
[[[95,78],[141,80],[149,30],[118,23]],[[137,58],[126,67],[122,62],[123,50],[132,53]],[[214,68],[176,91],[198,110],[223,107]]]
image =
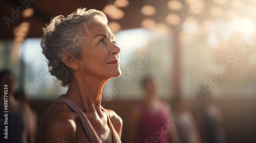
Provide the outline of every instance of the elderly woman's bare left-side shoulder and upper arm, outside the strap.
[[39,142],[75,142],[76,115],[65,103],[56,103],[45,115],[38,132]]

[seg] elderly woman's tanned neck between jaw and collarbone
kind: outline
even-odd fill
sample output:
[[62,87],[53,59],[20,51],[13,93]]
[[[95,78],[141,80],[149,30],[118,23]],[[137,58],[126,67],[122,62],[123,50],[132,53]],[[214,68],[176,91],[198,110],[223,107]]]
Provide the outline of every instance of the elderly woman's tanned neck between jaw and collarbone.
[[108,79],[89,77],[74,78],[66,97],[73,100],[84,112],[100,110],[101,92]]

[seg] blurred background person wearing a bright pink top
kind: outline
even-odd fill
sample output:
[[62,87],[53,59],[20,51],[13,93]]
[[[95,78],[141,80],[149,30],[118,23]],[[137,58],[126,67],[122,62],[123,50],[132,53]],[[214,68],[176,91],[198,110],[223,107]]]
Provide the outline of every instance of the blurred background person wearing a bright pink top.
[[170,106],[157,97],[156,79],[146,76],[141,85],[144,100],[131,109],[127,142],[179,142]]

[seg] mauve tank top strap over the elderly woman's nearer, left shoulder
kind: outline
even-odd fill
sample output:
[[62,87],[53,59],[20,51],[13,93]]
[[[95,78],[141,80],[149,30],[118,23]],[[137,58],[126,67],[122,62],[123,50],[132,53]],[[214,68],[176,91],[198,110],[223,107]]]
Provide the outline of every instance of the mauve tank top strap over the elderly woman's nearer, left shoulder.
[[77,112],[79,114],[81,121],[82,121],[83,128],[86,130],[86,133],[89,137],[90,142],[92,142],[92,143],[100,143],[101,142],[97,133],[93,129],[92,124],[88,120],[86,114],[84,114],[84,112],[79,108],[79,106],[74,101],[72,101],[69,98],[63,97],[63,95],[62,95],[55,100],[54,104],[56,104],[58,102],[64,102],[64,103],[68,104],[70,106],[70,108],[72,108],[75,112]]

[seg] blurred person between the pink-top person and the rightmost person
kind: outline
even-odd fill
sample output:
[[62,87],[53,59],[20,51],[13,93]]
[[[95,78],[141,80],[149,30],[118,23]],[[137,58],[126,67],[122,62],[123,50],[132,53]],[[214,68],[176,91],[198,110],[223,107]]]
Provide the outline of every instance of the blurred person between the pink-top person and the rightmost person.
[[186,108],[180,96],[175,96],[170,104],[173,109],[175,127],[181,143],[200,143],[200,135],[194,116]]

